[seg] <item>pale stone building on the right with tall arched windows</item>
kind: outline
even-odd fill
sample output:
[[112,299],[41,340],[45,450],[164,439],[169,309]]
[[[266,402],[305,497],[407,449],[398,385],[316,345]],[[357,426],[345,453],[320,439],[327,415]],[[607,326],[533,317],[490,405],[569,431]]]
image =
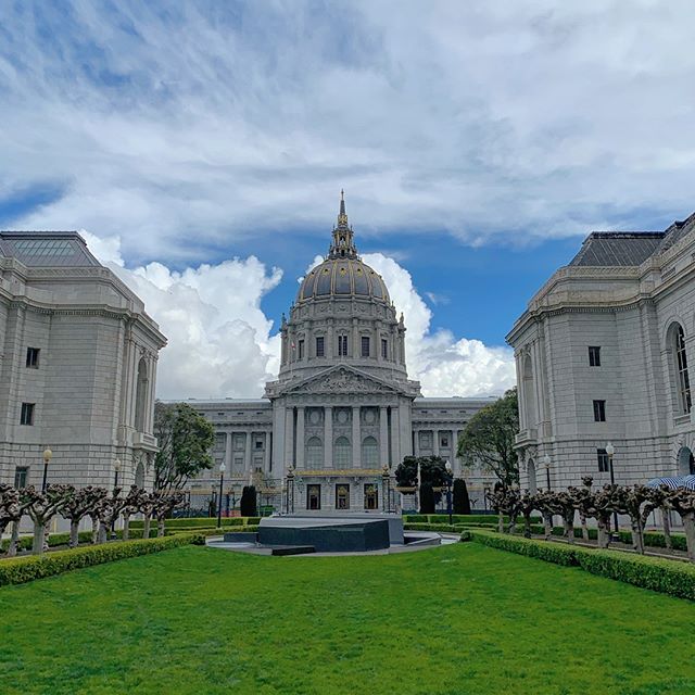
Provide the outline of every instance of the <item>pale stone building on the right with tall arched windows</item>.
[[695,215],[656,232],[593,232],[529,302],[515,349],[522,485],[695,472]]

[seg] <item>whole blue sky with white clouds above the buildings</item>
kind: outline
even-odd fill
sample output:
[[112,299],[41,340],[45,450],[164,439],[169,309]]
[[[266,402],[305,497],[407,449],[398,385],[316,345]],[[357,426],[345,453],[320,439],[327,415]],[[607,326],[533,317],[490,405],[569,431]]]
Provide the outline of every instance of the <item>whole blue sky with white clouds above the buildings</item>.
[[84,229],[147,294],[163,395],[257,395],[344,188],[413,375],[501,392],[590,230],[695,208],[693,29],[680,0],[5,3],[0,226]]

